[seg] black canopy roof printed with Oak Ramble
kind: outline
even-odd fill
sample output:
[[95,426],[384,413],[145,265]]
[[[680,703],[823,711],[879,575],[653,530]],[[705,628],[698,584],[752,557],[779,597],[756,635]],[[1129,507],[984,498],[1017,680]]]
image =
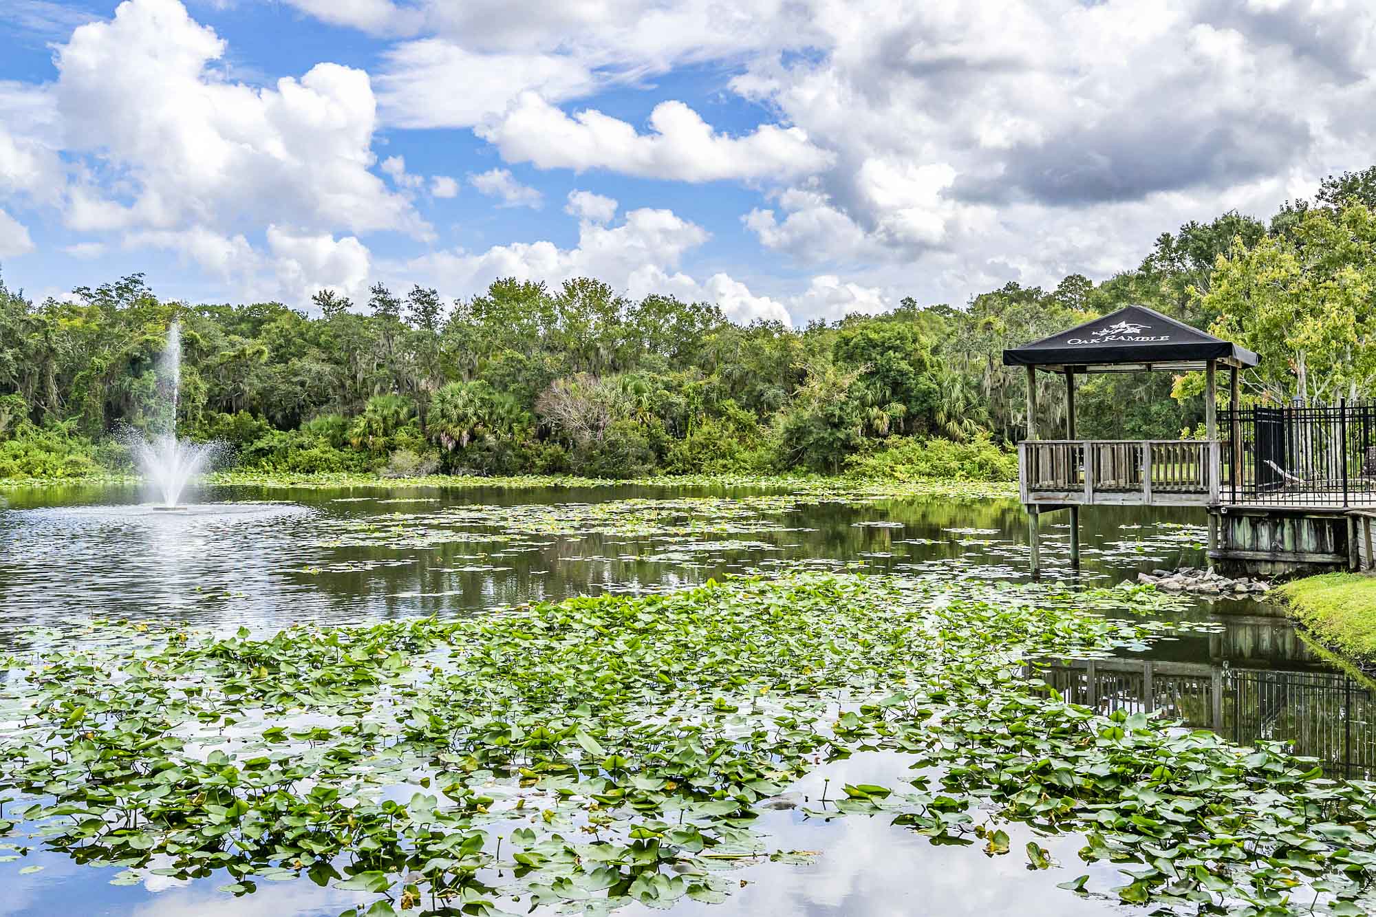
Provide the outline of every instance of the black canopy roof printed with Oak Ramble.
[[1255,366],[1256,354],[1178,322],[1146,306],[1127,306],[1071,330],[1003,351],[1004,366],[1046,366],[1087,373],[1137,369]]

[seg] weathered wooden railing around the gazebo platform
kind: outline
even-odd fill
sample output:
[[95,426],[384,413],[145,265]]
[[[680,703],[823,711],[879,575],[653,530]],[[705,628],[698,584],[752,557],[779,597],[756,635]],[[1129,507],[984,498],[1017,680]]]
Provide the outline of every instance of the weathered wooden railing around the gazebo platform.
[[1204,505],[1219,496],[1219,447],[1216,439],[1022,442],[1022,501]]

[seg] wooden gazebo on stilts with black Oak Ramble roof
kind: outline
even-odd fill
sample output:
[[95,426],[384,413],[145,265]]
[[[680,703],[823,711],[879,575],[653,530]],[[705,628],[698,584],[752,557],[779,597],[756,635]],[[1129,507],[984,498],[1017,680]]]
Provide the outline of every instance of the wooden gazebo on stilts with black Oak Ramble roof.
[[[1124,308],[1042,340],[1003,351],[1006,366],[1025,366],[1028,380],[1026,439],[1018,443],[1018,489],[1028,511],[1032,570],[1040,569],[1040,515],[1060,509],[1071,515],[1071,562],[1080,562],[1082,505],[1197,505],[1219,503],[1225,471],[1218,435],[1218,369],[1229,370],[1230,405],[1238,405],[1238,370],[1255,366],[1252,351],[1190,328],[1146,306]],[[1038,438],[1036,372],[1065,377],[1065,438]],[[1075,379],[1086,373],[1203,370],[1204,439],[1077,439]],[[1237,410],[1229,464],[1232,479],[1241,470]],[[1218,547],[1218,520],[1210,515],[1210,549]]]

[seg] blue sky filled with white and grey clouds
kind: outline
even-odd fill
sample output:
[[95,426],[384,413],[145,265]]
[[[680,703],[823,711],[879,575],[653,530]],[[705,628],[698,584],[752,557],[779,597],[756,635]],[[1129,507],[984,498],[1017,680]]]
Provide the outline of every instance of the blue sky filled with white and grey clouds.
[[804,324],[1104,280],[1373,135],[1368,0],[3,0],[0,273]]

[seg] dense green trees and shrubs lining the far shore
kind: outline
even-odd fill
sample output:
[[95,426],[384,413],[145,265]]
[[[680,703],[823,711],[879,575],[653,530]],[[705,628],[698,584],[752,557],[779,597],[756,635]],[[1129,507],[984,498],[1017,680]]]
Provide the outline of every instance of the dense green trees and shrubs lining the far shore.
[[[356,307],[323,291],[311,314],[162,302],[140,275],[70,302],[34,303],[0,284],[0,476],[118,465],[117,447],[94,443],[158,421],[155,357],[178,319],[179,431],[231,443],[250,470],[625,478],[849,464],[989,478],[1006,467],[987,447],[951,467],[969,450],[937,445],[929,460],[914,443],[1015,441],[1025,380],[1002,350],[1128,303],[1258,350],[1249,398],[1369,394],[1373,187],[1369,169],[1287,202],[1269,226],[1236,212],[1187,223],[1102,284],[1009,284],[965,308],[907,299],[802,329],[736,325],[671,296],[634,302],[586,278],[557,289],[502,280],[453,304],[421,286],[398,296],[378,284]],[[1053,430],[1064,398],[1058,380],[1043,384],[1039,423]],[[1201,420],[1201,390],[1190,376],[1087,379],[1079,431],[1174,436]]]

